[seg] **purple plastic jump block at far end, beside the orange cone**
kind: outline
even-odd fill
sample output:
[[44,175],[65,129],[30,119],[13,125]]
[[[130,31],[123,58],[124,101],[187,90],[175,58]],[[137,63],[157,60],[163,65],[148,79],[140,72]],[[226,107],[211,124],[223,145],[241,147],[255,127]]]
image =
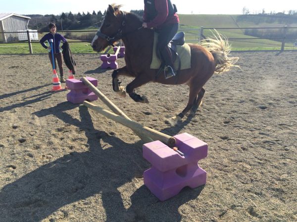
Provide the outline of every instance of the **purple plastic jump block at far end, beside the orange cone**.
[[[87,77],[95,87],[98,86],[98,80],[92,77]],[[94,101],[98,96],[92,92],[81,80],[68,79],[66,80],[66,87],[70,89],[67,93],[67,101],[72,103],[82,103],[84,100]]]

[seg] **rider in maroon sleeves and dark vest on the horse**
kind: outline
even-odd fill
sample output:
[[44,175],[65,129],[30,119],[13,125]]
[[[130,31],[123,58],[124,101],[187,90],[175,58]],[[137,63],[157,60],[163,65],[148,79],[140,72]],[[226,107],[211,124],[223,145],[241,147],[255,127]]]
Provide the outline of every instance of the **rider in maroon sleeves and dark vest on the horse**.
[[176,6],[170,0],[145,0],[143,16],[144,28],[154,28],[158,35],[157,48],[165,63],[165,79],[175,76],[171,51],[168,43],[174,37],[179,27],[179,17]]

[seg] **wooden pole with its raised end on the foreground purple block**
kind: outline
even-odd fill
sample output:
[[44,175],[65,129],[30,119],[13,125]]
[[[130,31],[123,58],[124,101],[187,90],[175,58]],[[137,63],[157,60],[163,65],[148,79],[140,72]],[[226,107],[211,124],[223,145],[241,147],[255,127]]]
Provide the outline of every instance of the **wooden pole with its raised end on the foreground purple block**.
[[111,119],[117,123],[122,124],[125,127],[130,128],[131,130],[133,130],[134,132],[140,132],[144,135],[147,135],[149,137],[151,137],[154,140],[160,140],[161,142],[167,144],[169,147],[174,147],[176,140],[174,137],[167,135],[165,133],[161,133],[158,132],[156,130],[153,130],[151,128],[148,127],[144,127],[143,125],[136,123],[132,120],[129,119],[125,119],[119,115],[116,115],[108,110],[105,110],[99,106],[96,106],[94,104],[92,104],[91,102],[88,101],[84,101],[83,103],[85,106],[87,106],[88,108],[91,108],[95,111],[97,111],[99,114],[107,117],[108,119]]

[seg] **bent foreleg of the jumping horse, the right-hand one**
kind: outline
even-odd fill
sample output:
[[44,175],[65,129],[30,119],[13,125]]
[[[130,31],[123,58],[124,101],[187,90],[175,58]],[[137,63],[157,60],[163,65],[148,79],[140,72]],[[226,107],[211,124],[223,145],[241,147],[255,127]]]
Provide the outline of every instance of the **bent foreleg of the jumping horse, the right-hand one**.
[[135,92],[134,89],[141,87],[142,85],[148,83],[150,79],[146,78],[146,75],[142,75],[141,77],[136,77],[131,83],[129,83],[126,87],[126,91],[129,96],[136,102],[144,102],[148,103],[148,99],[145,96],[140,96]]

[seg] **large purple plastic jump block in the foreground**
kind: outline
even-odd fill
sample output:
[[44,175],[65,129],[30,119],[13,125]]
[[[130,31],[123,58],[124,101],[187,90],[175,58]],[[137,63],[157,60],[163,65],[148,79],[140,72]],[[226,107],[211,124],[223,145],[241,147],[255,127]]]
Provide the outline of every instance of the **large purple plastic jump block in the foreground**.
[[198,161],[207,156],[207,144],[189,133],[175,135],[179,155],[159,140],[143,145],[143,157],[151,163],[144,172],[144,183],[161,201],[177,195],[184,187],[206,183],[206,172]]

